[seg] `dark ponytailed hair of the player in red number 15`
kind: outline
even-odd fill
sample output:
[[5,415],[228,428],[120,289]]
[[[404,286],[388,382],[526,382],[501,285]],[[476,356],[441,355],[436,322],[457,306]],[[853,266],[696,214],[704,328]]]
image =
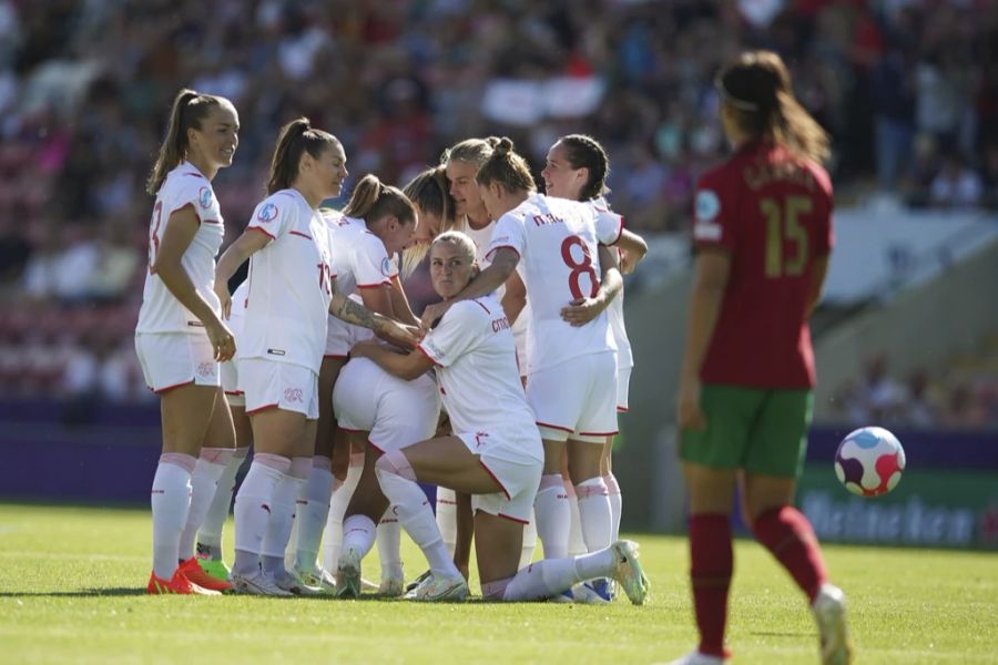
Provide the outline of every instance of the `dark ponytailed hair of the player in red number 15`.
[[742,53],[721,70],[715,84],[746,134],[815,162],[828,158],[828,134],[794,96],[790,72],[776,53]]

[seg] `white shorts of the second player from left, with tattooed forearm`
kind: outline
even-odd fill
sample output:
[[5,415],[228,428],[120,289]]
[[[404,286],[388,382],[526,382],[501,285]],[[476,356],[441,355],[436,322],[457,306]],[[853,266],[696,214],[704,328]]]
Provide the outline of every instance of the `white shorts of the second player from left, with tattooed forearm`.
[[318,375],[312,369],[264,358],[243,358],[238,371],[247,416],[277,408],[304,413],[307,420],[318,418]]

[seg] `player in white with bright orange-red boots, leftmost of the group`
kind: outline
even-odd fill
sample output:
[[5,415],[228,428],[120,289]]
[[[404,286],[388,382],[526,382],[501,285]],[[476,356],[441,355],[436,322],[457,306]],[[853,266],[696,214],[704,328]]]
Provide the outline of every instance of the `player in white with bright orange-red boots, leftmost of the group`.
[[202,446],[210,441],[232,454],[235,443],[218,380],[218,362],[233,355],[235,340],[212,290],[215,255],[225,234],[212,180],[232,164],[238,129],[228,100],[181,90],[146,185],[156,203],[135,350],[146,385],[160,396],[163,420],[163,452],[152,484],[147,591],[153,594],[217,594],[228,587],[205,575],[193,557],[177,563],[192,501],[198,507],[211,501],[201,483],[192,497]]

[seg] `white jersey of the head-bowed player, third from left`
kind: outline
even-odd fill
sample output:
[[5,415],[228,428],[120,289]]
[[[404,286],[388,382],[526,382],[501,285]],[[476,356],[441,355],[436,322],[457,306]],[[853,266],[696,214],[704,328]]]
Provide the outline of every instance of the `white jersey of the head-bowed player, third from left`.
[[[323,218],[329,229],[330,265],[336,275],[334,288],[337,294],[349,296],[358,288],[391,284],[398,276],[398,266],[388,256],[385,243],[367,229],[364,219],[337,212],[325,212]],[[356,327],[332,315],[328,326],[329,337],[343,336],[344,330]]]

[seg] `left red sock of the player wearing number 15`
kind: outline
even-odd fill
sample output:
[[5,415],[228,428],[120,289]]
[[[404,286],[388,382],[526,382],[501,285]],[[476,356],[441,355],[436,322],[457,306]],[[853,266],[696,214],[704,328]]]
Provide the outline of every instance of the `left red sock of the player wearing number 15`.
[[724,649],[727,590],[733,567],[731,519],[705,513],[690,518],[690,580],[700,630],[700,652],[729,657]]

